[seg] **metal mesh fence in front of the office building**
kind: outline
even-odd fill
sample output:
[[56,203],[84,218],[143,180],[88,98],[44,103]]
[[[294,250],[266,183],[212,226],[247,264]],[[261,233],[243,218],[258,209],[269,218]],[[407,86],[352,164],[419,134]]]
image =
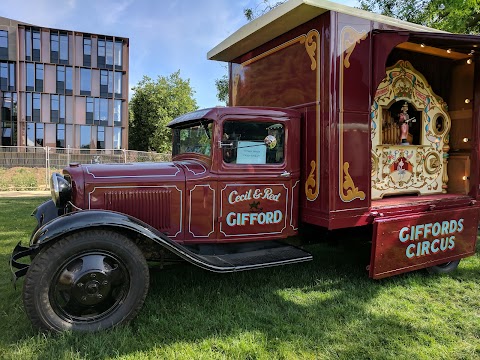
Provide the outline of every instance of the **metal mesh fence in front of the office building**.
[[[71,163],[165,162],[170,160],[170,154],[124,149],[0,146],[0,190],[48,189],[51,173],[59,172]],[[42,175],[42,173],[44,174]]]

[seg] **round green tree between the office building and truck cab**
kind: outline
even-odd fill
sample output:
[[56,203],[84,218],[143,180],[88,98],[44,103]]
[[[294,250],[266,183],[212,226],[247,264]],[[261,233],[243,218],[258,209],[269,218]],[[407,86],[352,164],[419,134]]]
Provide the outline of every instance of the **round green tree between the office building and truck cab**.
[[129,143],[132,150],[170,152],[172,135],[166,125],[177,116],[197,109],[190,80],[180,70],[159,76],[156,81],[144,76],[132,88]]

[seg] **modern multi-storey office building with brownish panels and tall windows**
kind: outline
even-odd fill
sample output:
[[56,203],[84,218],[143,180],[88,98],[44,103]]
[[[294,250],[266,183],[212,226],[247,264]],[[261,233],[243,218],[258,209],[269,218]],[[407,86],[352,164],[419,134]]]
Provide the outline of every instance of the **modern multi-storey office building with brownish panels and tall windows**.
[[2,146],[128,147],[127,38],[0,17]]

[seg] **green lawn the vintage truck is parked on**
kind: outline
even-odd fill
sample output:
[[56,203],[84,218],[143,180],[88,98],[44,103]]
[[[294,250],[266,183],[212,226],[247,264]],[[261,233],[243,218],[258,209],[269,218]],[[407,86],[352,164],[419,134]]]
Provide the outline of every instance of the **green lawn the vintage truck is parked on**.
[[480,358],[480,257],[447,276],[424,271],[374,281],[368,249],[312,245],[310,263],[217,275],[152,272],[129,325],[99,334],[41,334],[29,323],[8,258],[41,199],[0,199],[0,358],[474,359]]

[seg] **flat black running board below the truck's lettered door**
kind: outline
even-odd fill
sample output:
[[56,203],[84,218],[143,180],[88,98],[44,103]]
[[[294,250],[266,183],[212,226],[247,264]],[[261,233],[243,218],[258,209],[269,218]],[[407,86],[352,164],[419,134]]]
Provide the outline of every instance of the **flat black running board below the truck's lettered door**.
[[[257,245],[255,247],[255,244]],[[261,269],[272,266],[295,264],[304,261],[310,261],[313,256],[297,247],[282,244],[274,241],[261,243],[251,243],[243,251],[238,244],[228,248],[221,246],[199,249],[191,249],[195,252],[195,257],[205,265],[210,265],[218,269],[218,272],[236,272],[244,270]],[[207,253],[205,253],[207,249]],[[210,250],[210,251],[208,251]],[[208,270],[212,270],[207,267]]]

